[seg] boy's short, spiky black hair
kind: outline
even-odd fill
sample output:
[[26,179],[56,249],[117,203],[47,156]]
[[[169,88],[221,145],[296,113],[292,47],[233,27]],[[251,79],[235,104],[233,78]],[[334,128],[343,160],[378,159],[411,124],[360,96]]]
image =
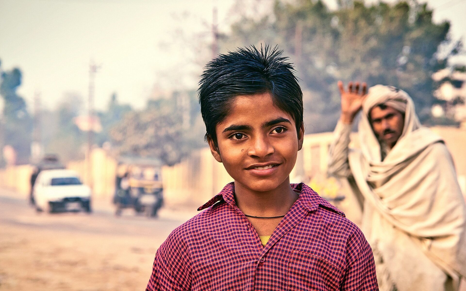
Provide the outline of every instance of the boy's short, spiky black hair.
[[241,47],[219,54],[207,63],[199,81],[199,103],[206,124],[206,136],[218,148],[215,127],[225,120],[234,98],[239,95],[270,93],[274,105],[291,115],[296,131],[302,126],[302,91],[293,65],[283,50],[269,45]]

